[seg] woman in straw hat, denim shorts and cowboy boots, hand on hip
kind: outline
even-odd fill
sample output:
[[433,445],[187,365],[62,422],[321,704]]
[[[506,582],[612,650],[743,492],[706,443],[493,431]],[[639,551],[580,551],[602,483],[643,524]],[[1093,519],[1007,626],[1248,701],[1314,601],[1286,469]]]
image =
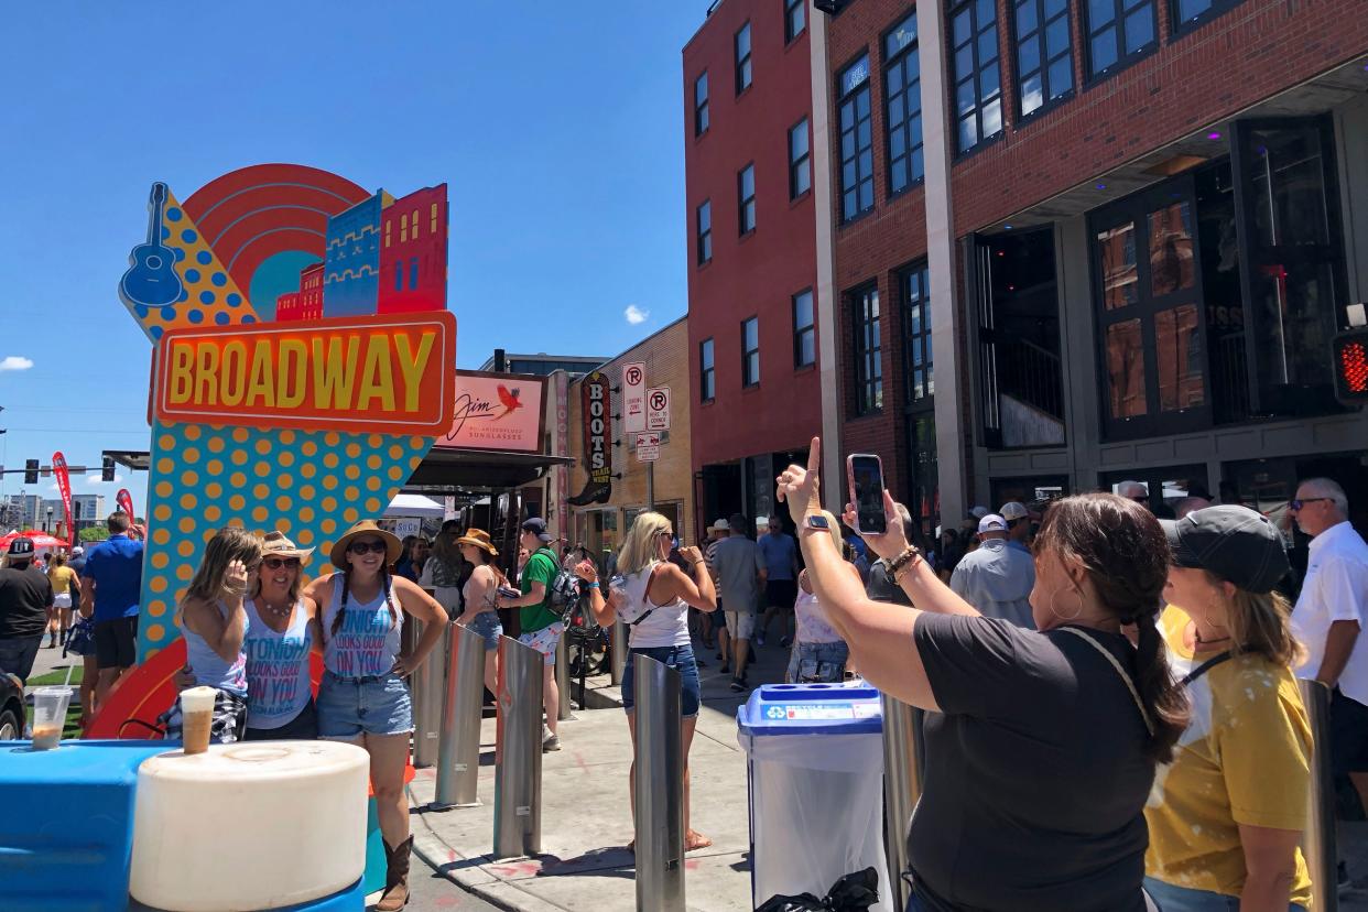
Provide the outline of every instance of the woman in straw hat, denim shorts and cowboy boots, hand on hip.
[[[409,809],[404,768],[409,759],[413,706],[404,678],[423,665],[446,630],[446,610],[412,580],[394,577],[399,540],[371,520],[332,544],[339,572],[319,577],[305,595],[319,606],[323,665],[319,736],[364,747],[384,837],[387,872],[378,912],[398,912],[409,900]],[[401,651],[404,615],[423,622],[412,654]]]

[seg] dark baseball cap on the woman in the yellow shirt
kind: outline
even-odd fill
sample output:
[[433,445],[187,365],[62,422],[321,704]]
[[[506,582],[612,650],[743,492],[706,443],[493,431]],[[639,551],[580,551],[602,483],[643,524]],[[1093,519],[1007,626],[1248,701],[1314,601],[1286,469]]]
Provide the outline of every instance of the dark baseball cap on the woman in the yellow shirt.
[[1175,565],[1208,570],[1246,592],[1272,592],[1291,569],[1278,528],[1249,507],[1205,507],[1159,525]]

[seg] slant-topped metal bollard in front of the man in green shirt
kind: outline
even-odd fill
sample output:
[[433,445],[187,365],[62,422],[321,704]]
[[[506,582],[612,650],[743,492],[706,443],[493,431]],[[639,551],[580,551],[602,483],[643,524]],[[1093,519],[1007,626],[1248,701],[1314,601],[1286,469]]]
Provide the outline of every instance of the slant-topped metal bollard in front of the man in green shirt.
[[542,850],[542,654],[499,637],[494,748],[494,856]]

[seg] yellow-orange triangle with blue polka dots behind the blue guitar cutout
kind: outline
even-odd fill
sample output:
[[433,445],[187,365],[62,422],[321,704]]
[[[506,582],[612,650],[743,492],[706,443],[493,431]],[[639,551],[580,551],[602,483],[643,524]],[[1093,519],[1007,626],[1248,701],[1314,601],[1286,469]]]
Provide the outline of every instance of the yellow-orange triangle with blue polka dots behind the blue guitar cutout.
[[161,243],[175,254],[174,265],[183,289],[181,299],[164,308],[141,304],[129,308],[153,343],[181,327],[226,327],[259,320],[246,295],[170,191],[161,215]]

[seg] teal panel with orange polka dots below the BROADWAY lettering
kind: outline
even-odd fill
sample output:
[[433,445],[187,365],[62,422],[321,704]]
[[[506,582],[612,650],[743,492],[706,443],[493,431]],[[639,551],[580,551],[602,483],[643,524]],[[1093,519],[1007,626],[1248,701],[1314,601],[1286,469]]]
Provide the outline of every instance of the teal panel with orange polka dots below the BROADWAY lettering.
[[[152,518],[150,547],[142,572],[140,660],[156,655],[179,636],[174,621],[176,602],[194,576],[205,544],[219,528],[241,525],[259,533],[280,529],[301,547],[317,548],[305,566],[305,577],[330,573],[328,548],[337,537],[357,520],[380,517],[427,455],[432,440],[155,423],[146,513]],[[234,457],[241,457],[241,468]],[[311,472],[285,470],[280,468],[285,462]],[[365,466],[365,479],[382,480],[382,484],[378,488],[367,484],[364,492],[357,489],[347,474],[347,469],[357,466]],[[320,483],[346,488],[354,496],[323,496]]]

